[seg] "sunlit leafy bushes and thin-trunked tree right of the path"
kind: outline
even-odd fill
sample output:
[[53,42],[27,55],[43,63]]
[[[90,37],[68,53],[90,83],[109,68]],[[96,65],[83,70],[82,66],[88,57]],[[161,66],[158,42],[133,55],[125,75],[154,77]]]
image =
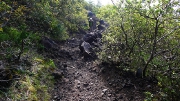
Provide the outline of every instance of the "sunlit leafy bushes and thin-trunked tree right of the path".
[[160,91],[151,100],[177,101],[180,19],[179,10],[173,7],[179,2],[155,1],[124,0],[99,9],[97,16],[111,25],[104,35],[100,57],[102,61],[119,63],[118,68],[143,68],[144,77],[157,77]]

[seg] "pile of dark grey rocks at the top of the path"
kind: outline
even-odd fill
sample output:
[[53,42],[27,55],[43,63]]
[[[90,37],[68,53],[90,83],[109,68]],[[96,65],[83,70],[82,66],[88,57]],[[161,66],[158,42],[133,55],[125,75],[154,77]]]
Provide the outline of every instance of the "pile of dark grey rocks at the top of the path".
[[[88,17],[92,17],[94,20],[93,30],[90,32],[87,32],[82,41],[79,44],[79,49],[81,53],[83,54],[84,58],[90,58],[96,57],[95,52],[93,51],[92,46],[99,47],[100,41],[102,38],[102,33],[109,27],[107,23],[104,22],[104,20],[99,20],[95,14],[92,12],[88,12]],[[99,21],[99,25],[96,25],[96,21]],[[95,27],[94,27],[95,26]]]

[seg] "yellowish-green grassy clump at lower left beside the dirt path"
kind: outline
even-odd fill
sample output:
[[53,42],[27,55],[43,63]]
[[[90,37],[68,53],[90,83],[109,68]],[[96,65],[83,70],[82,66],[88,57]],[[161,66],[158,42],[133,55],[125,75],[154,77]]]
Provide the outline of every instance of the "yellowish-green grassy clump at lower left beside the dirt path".
[[40,57],[34,58],[32,62],[34,65],[29,70],[17,72],[20,79],[12,84],[8,92],[11,100],[50,100],[51,94],[49,92],[53,89],[54,84],[51,73],[56,66],[52,60],[43,60]]

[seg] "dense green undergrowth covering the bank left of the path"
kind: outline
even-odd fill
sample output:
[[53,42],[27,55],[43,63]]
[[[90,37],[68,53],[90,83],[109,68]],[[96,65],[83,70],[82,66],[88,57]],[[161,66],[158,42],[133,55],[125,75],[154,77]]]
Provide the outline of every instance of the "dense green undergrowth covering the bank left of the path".
[[0,0],[0,100],[50,101],[57,67],[40,40],[64,41],[69,32],[86,30],[85,6],[83,0]]

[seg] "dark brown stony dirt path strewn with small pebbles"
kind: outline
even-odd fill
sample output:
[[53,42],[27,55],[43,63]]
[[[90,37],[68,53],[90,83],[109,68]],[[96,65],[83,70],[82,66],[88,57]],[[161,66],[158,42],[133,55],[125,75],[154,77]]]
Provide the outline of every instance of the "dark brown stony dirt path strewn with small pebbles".
[[145,91],[153,92],[153,84],[132,72],[99,59],[84,59],[78,48],[82,37],[81,33],[71,33],[69,40],[58,43],[58,50],[47,54],[62,75],[56,77],[54,101],[143,101]]

